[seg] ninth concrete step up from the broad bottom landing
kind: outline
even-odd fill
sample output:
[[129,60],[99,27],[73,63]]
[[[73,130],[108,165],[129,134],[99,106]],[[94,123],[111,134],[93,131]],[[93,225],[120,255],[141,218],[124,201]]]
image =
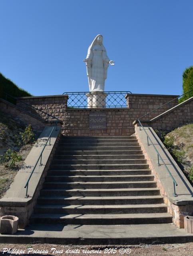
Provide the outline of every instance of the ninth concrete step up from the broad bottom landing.
[[147,164],[147,160],[145,159],[99,159],[99,160],[84,160],[84,159],[80,159],[80,160],[67,160],[67,159],[55,159],[52,160],[52,164],[53,165],[61,165],[61,164],[96,164],[96,165],[101,165],[101,164]]

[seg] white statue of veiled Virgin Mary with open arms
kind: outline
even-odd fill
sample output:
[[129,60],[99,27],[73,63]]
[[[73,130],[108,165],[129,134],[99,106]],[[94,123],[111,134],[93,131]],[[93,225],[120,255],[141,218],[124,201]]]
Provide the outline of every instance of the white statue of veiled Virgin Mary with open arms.
[[103,92],[105,79],[107,78],[107,68],[115,65],[113,60],[109,60],[105,47],[103,46],[103,36],[97,35],[88,48],[86,59],[87,76],[90,92]]

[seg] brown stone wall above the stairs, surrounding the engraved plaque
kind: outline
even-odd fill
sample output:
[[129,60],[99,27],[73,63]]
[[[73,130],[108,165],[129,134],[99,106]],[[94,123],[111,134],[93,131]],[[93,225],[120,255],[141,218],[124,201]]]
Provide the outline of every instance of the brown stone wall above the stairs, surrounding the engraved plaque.
[[[173,95],[153,94],[127,94],[128,108],[103,108],[103,109],[73,109],[67,108],[68,95],[21,97],[19,100],[31,106],[56,116],[64,122],[62,133],[71,136],[107,136],[107,135],[131,135],[134,133],[133,121],[136,118],[154,110],[154,108],[173,100]],[[153,112],[153,117],[177,105],[177,100],[167,106]],[[21,102],[17,106],[30,110],[30,107]],[[31,109],[42,118],[45,114]],[[92,113],[102,112],[106,114],[107,128],[105,130],[90,130],[89,116]],[[150,115],[149,115],[150,117]],[[52,119],[52,118],[50,118]]]

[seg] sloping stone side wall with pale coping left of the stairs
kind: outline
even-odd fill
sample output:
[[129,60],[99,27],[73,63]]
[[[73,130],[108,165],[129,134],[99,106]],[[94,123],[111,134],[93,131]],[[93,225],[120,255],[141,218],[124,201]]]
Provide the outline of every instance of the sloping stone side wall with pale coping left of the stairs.
[[[38,138],[28,157],[26,158],[24,166],[18,171],[13,183],[7,190],[4,197],[0,199],[2,215],[17,216],[19,218],[20,228],[25,228],[26,225],[29,224],[30,216],[34,212],[34,207],[36,206],[37,199],[40,196],[40,190],[43,187],[45,177],[47,176],[47,172],[50,168],[50,164],[52,163],[52,159],[57,149],[58,142],[60,141],[61,130],[60,128],[58,128],[58,131],[54,130],[54,132],[52,133],[51,146],[48,146],[48,148],[46,147],[42,154],[42,166],[37,165],[37,170],[35,170],[34,174],[32,174],[28,188],[28,193],[30,194],[30,196],[28,198],[25,198],[26,189],[24,188],[24,186],[30,175],[28,166],[34,166],[36,158],[34,159],[33,157],[34,155],[36,156],[38,148],[40,151],[42,150],[42,144],[44,146],[45,141],[48,139],[51,130],[52,128],[50,129],[50,127],[44,128],[44,131]],[[28,162],[25,168],[26,161]],[[25,174],[27,174],[27,176]],[[23,177],[26,177],[26,180]],[[16,190],[16,188],[18,191]],[[14,195],[14,197],[12,197],[12,195]]]

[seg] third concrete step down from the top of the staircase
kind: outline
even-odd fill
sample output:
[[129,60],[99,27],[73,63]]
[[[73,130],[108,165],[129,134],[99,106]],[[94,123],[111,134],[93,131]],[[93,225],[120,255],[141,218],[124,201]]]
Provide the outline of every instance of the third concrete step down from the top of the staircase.
[[125,142],[105,142],[105,143],[100,143],[100,142],[90,142],[90,143],[85,143],[85,142],[65,142],[65,143],[62,143],[62,142],[59,142],[58,144],[58,147],[72,147],[72,148],[76,148],[76,147],[84,147],[84,148],[90,148],[90,147],[132,147],[132,146],[136,146],[138,147],[139,146],[139,143],[138,142],[135,142],[135,143],[132,143],[132,142],[128,142],[128,143],[125,143]]

